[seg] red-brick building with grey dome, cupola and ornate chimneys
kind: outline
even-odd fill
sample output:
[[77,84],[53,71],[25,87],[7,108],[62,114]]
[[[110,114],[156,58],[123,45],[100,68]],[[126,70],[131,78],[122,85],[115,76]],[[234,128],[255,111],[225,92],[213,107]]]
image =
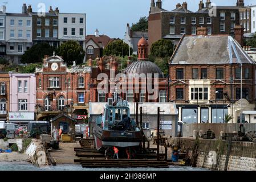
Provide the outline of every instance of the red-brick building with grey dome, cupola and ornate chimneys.
[[[148,42],[146,39],[142,38],[139,40],[138,44],[138,60],[131,63],[128,61],[128,67],[125,69],[123,74],[126,78],[130,75],[145,73],[146,77],[151,76],[152,78],[148,78],[148,82],[152,82],[156,85],[155,91],[159,91],[159,95],[155,99],[150,99],[149,96],[152,96],[146,89],[145,85],[148,84],[146,80],[121,80],[115,77],[115,81],[111,81],[108,79],[108,92],[105,90],[97,90],[97,86],[103,80],[97,80],[97,75],[99,73],[105,73],[108,78],[116,76],[118,72],[118,63],[115,59],[107,59],[107,57],[103,57],[101,59],[97,58],[97,67],[92,67],[91,81],[90,81],[90,101],[92,102],[106,102],[108,97],[112,97],[112,93],[109,90],[116,86],[117,83],[121,85],[125,85],[126,90],[121,92],[120,95],[124,100],[128,102],[166,102],[168,99],[168,78],[164,77],[161,69],[157,67],[155,63],[148,61]],[[89,65],[91,65],[92,60],[88,60]],[[154,79],[157,74],[158,81]],[[155,77],[156,78],[156,77]],[[131,81],[131,82],[130,82]],[[137,82],[136,82],[137,81]],[[121,89],[124,87],[122,86]],[[120,92],[120,90],[116,90]],[[113,91],[114,92],[114,91]]]

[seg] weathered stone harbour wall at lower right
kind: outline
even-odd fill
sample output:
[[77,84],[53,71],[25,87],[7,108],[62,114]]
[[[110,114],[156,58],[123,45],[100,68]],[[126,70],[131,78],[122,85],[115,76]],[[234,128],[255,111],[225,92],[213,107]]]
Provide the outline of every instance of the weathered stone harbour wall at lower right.
[[192,156],[197,144],[196,167],[224,171],[255,171],[256,143],[204,140],[195,138],[169,138],[169,146],[180,143],[181,151]]

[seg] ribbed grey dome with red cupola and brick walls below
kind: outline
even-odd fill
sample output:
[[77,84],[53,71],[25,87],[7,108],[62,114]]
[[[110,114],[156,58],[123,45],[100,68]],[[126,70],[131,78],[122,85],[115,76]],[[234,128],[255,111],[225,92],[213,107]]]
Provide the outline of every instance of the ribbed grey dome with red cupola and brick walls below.
[[[128,102],[167,102],[168,101],[168,80],[164,78],[164,74],[161,69],[151,61],[148,60],[148,42],[146,39],[141,38],[138,42],[138,59],[137,61],[128,65],[123,72],[127,77],[133,77],[136,74],[145,74],[147,77],[146,83],[140,80],[139,83],[134,82],[132,79],[127,82],[127,93],[122,93],[124,100]],[[149,76],[150,75],[150,76]],[[152,79],[149,80],[149,77]],[[133,77],[134,78],[134,77]],[[156,80],[155,78],[158,78]],[[129,82],[130,81],[130,82]],[[151,99],[149,96],[153,96],[148,93],[148,89],[144,85],[152,83],[152,89],[154,92],[158,91],[157,98]],[[132,85],[132,88],[131,88]],[[155,86],[154,86],[155,85]],[[139,88],[137,88],[139,86]],[[155,87],[155,88],[154,88]],[[139,93],[137,93],[139,90]]]

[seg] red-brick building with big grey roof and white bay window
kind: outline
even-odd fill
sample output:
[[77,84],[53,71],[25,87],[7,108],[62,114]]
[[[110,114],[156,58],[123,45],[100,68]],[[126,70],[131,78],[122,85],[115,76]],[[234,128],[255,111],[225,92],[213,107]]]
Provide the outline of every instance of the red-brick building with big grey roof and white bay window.
[[198,28],[178,44],[169,64],[169,100],[176,102],[179,121],[224,122],[228,113],[240,122],[241,109],[255,110],[255,63],[239,45],[243,28],[235,27],[237,40],[206,34]]

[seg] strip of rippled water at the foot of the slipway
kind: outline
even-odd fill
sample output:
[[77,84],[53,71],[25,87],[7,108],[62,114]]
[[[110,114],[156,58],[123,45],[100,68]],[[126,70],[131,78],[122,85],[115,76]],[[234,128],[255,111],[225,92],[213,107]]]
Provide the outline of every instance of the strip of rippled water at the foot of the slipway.
[[82,168],[79,164],[38,168],[25,162],[0,162],[0,171],[207,171],[207,169],[177,166],[170,166],[170,168]]

